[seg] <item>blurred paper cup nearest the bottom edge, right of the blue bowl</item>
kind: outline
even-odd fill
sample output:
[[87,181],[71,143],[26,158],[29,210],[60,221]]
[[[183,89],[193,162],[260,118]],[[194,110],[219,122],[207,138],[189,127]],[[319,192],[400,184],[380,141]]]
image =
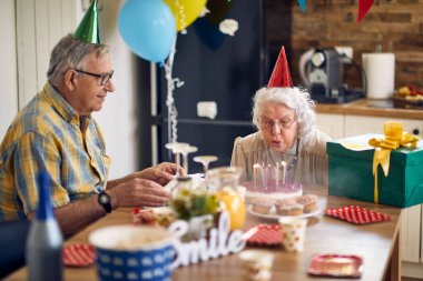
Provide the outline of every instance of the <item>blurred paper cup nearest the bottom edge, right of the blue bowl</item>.
[[244,269],[244,280],[270,280],[274,253],[263,250],[247,250],[240,252],[238,257]]

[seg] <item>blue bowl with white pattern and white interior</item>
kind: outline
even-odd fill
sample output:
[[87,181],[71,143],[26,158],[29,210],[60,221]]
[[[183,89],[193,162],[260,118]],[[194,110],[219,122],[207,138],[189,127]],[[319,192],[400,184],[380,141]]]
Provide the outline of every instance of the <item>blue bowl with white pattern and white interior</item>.
[[167,281],[175,258],[175,237],[164,228],[114,225],[94,231],[101,281]]

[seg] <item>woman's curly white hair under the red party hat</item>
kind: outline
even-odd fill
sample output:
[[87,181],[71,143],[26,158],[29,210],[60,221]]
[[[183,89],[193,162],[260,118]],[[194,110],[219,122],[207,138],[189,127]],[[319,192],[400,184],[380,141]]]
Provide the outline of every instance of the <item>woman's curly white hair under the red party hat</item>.
[[298,138],[302,144],[311,141],[316,130],[315,102],[305,89],[299,88],[262,88],[253,98],[253,123],[259,130],[258,119],[265,103],[282,103],[295,111],[298,123]]

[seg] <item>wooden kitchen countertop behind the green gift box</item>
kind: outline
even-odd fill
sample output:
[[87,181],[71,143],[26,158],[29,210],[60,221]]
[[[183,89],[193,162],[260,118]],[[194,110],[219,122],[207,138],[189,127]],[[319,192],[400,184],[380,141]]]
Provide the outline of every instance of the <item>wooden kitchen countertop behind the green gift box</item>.
[[317,113],[355,114],[423,120],[423,110],[392,108],[391,100],[361,99],[343,104],[318,103]]

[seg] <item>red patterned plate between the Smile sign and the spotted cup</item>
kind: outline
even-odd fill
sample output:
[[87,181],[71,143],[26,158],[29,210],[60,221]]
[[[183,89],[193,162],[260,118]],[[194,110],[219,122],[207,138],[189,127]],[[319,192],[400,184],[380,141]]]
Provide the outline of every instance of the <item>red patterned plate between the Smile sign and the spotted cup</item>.
[[282,233],[279,224],[257,224],[247,229],[243,238],[248,245],[257,247],[279,247],[282,243]]

